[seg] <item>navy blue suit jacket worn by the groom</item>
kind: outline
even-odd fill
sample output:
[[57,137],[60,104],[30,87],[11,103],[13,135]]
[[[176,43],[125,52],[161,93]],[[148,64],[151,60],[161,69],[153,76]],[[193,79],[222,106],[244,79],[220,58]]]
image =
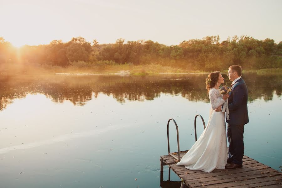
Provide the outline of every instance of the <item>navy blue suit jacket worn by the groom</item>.
[[234,83],[233,89],[228,98],[229,119],[226,122],[230,125],[244,125],[249,123],[248,116],[248,88],[245,81],[240,78]]

